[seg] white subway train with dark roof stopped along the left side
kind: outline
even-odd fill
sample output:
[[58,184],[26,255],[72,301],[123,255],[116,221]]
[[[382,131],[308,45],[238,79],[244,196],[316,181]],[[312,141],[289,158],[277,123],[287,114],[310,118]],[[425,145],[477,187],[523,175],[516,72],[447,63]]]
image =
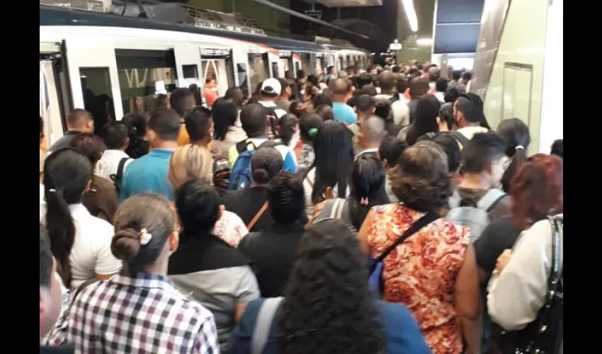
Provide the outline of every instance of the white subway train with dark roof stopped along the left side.
[[295,76],[299,69],[310,74],[370,64],[370,53],[356,47],[141,18],[127,10],[130,16],[40,4],[40,116],[48,144],[62,137],[73,108],[91,110],[95,120],[120,119],[154,108],[157,93],[203,88],[208,78],[216,79],[221,96],[232,86],[252,92],[288,70]]

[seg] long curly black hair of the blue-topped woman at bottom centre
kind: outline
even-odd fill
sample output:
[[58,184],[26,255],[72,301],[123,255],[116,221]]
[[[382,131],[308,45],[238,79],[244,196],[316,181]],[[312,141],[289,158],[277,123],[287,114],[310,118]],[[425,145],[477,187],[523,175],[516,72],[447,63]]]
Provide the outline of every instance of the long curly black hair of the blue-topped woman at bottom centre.
[[365,256],[339,220],[318,222],[305,232],[284,295],[281,353],[386,352]]

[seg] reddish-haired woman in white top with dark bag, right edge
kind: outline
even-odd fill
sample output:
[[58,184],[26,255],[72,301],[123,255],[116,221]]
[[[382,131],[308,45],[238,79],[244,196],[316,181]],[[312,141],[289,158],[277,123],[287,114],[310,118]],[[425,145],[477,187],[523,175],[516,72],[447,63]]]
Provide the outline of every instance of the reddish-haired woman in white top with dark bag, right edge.
[[[506,331],[524,329],[535,321],[545,304],[553,236],[546,215],[563,212],[563,185],[562,159],[545,154],[532,156],[513,178],[512,190],[524,190],[521,195],[513,193],[513,222],[525,231],[512,250],[507,249],[499,256],[487,296],[489,315]],[[547,207],[541,208],[543,205]],[[551,210],[550,205],[553,205]],[[560,232],[560,273],[563,245]]]

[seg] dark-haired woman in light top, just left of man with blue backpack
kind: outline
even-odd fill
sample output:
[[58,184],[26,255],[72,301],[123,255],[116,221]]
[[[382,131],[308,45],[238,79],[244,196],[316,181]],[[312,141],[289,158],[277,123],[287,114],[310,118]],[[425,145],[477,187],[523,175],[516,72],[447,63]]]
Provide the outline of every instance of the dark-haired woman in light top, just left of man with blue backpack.
[[228,156],[228,150],[237,142],[246,139],[246,132],[236,125],[238,110],[234,102],[227,98],[217,98],[212,105],[214,133],[211,142],[212,152]]

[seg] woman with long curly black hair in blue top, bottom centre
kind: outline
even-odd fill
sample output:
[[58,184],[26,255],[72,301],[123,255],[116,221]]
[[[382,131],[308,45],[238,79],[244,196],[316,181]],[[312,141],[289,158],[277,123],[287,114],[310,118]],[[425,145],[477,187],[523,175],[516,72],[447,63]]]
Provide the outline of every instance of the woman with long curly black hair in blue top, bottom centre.
[[305,232],[284,299],[246,304],[228,353],[250,352],[258,314],[272,304],[276,312],[259,353],[431,353],[407,309],[373,299],[358,241],[334,219]]

